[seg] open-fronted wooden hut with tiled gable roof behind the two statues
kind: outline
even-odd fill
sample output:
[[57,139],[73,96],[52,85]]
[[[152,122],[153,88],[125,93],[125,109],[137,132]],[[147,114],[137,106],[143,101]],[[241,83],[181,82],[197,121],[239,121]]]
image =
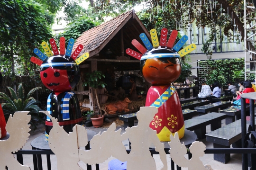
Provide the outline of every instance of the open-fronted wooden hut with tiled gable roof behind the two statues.
[[[98,70],[105,73],[107,68],[110,69],[110,72],[139,70],[140,61],[129,57],[125,50],[131,48],[137,51],[131,42],[133,39],[137,39],[143,44],[139,38],[141,33],[145,33],[151,39],[149,32],[134,10],[85,31],[76,40],[73,47],[73,49],[76,49],[79,44],[82,44],[84,49],[80,55],[86,52],[90,54],[89,59],[79,65],[81,71],[93,72]],[[90,107],[92,110],[94,104],[92,89],[89,87],[88,91],[78,92],[77,94],[81,93],[89,93],[90,103],[85,107]]]

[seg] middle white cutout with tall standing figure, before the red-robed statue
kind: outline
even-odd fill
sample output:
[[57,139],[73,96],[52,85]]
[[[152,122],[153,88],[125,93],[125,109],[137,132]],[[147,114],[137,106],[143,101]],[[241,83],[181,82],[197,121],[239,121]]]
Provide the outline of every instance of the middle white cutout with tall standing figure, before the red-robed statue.
[[[113,156],[120,161],[127,161],[127,170],[156,170],[155,160],[149,152],[149,147],[153,143],[164,164],[162,169],[167,170],[164,144],[159,141],[156,131],[149,127],[156,113],[155,107],[140,107],[140,111],[137,112],[138,125],[126,128],[122,135],[121,129],[115,131],[116,125],[113,123],[107,131],[91,139],[91,150],[79,151],[80,161],[96,164]],[[131,152],[128,155],[122,144],[126,139],[131,143]]]

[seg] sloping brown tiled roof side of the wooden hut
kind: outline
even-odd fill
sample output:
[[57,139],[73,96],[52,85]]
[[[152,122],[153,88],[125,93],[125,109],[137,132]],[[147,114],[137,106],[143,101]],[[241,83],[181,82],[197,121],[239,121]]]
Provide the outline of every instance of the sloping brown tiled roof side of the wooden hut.
[[83,50],[80,55],[84,54],[85,52],[94,51],[95,49],[100,47],[133,12],[134,10],[128,11],[104,24],[85,31],[79,38],[77,38],[73,46],[73,51],[79,44],[83,45]]

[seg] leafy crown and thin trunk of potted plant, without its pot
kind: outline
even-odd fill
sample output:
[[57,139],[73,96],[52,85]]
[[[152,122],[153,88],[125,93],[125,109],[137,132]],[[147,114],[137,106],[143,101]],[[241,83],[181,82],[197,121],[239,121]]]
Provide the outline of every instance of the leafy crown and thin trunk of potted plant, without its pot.
[[105,88],[105,85],[107,85],[105,82],[100,81],[102,77],[105,78],[105,75],[100,71],[86,72],[84,83],[83,83],[83,86],[89,85],[91,88],[94,89],[94,95],[96,96],[96,101],[97,101],[98,107],[100,109],[101,117],[102,117],[101,105],[99,102],[99,98],[98,98],[96,89],[99,86],[101,86],[102,88]]

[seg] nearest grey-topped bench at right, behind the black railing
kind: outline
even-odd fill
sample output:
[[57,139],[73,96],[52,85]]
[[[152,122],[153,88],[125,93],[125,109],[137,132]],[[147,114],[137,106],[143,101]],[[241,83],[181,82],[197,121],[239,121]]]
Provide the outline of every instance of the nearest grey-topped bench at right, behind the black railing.
[[[256,120],[255,120],[256,122]],[[248,129],[249,124],[247,124]],[[215,131],[206,134],[206,141],[213,143],[213,148],[241,147],[241,120],[225,125]],[[214,160],[222,163],[230,161],[230,153],[215,153]]]

